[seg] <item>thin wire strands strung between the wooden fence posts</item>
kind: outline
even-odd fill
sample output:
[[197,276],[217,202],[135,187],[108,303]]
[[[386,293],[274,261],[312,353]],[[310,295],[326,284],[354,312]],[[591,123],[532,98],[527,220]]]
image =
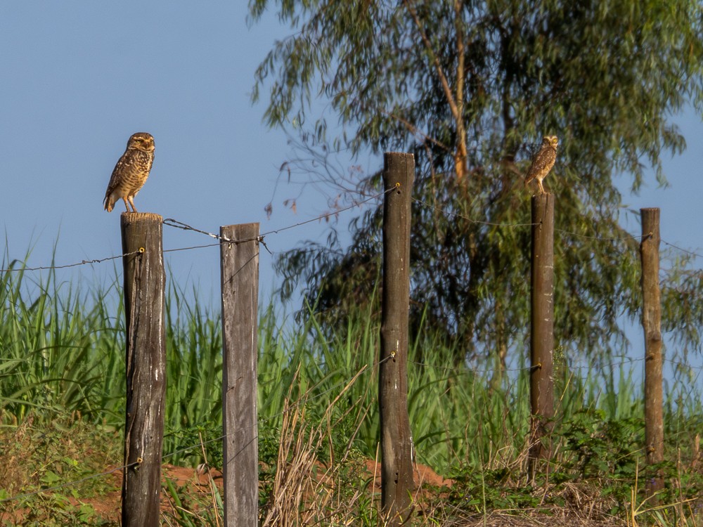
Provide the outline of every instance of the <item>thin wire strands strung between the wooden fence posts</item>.
[[[180,230],[192,231],[194,233],[198,233],[200,235],[205,235],[209,238],[217,240],[217,242],[203,244],[203,245],[191,245],[191,246],[187,246],[187,247],[176,247],[176,248],[171,248],[171,249],[164,249],[164,252],[190,251],[190,250],[195,250],[195,249],[203,249],[203,248],[207,248],[207,247],[218,247],[222,243],[238,244],[238,243],[248,242],[248,241],[252,241],[252,240],[257,240],[261,245],[263,245],[267,250],[269,250],[269,248],[266,247],[266,242],[265,242],[266,237],[269,237],[272,235],[278,235],[279,233],[282,233],[284,231],[299,228],[299,227],[308,225],[309,223],[327,220],[333,216],[337,217],[340,214],[342,214],[343,212],[347,212],[349,210],[356,209],[358,207],[361,207],[363,204],[366,204],[366,203],[371,202],[373,200],[378,200],[386,192],[389,192],[392,190],[394,190],[394,189],[389,189],[385,192],[377,193],[377,194],[371,195],[371,196],[363,195],[360,193],[360,197],[363,199],[355,201],[354,203],[352,203],[348,207],[344,207],[342,209],[338,209],[333,212],[321,214],[321,215],[315,216],[314,218],[311,218],[311,219],[299,221],[297,223],[292,223],[287,226],[272,229],[272,230],[269,230],[269,231],[266,231],[264,233],[259,234],[256,238],[248,238],[248,239],[244,239],[244,240],[230,240],[228,238],[224,238],[224,237],[217,235],[215,233],[209,232],[208,230],[190,226],[187,223],[184,223],[184,222],[179,221],[177,219],[167,218],[167,219],[163,220],[163,225],[165,225],[165,226],[169,226],[169,227],[180,229]],[[463,214],[458,214],[456,212],[446,211],[445,209],[441,209],[440,207],[434,207],[432,204],[427,204],[426,202],[423,202],[422,200],[413,200],[413,201],[422,207],[427,207],[428,209],[432,209],[434,212],[441,212],[441,214],[445,214],[446,216],[460,218],[465,221],[469,221],[470,223],[477,223],[477,224],[481,224],[481,225],[500,227],[500,228],[526,228],[526,227],[531,227],[534,225],[534,223],[499,223],[499,222],[486,221],[483,219],[474,219],[474,218],[470,218],[469,216],[465,216]],[[619,236],[619,237],[612,237],[612,236],[599,236],[599,235],[593,235],[593,234],[575,233],[575,232],[563,230],[563,229],[555,229],[555,231],[562,233],[564,235],[572,235],[575,237],[585,238],[588,240],[596,240],[596,241],[600,241],[600,242],[612,242],[612,241],[619,241],[619,240],[641,240],[643,238],[642,235],[633,235],[631,233],[625,233],[624,235]],[[679,247],[678,245],[674,245],[673,243],[666,242],[666,240],[661,240],[661,241],[662,241],[662,243],[671,247],[672,249],[676,249],[678,252],[681,252],[681,254],[686,254],[686,255],[692,256],[694,258],[703,259],[703,255],[699,254],[698,252],[692,252],[688,249],[683,249],[682,247]],[[56,265],[56,264],[52,263],[51,265],[44,265],[44,266],[26,266],[26,264],[25,264],[26,262],[19,261],[19,260],[13,260],[13,261],[11,261],[11,263],[9,264],[8,267],[0,268],[0,273],[13,273],[13,272],[17,273],[17,272],[25,272],[25,271],[47,271],[47,270],[73,268],[73,267],[84,266],[84,265],[104,263],[107,261],[112,261],[115,259],[125,258],[125,257],[129,257],[129,256],[135,256],[139,252],[140,251],[128,252],[128,253],[124,253],[124,254],[117,254],[115,256],[105,256],[103,258],[96,258],[96,259],[82,259],[82,260],[76,261],[74,263],[66,263],[66,264],[61,264],[61,265]],[[269,252],[271,252],[271,251],[269,250]],[[703,271],[697,270],[694,272],[701,273]],[[385,360],[387,360],[387,359],[385,359]],[[610,362],[610,363],[598,364],[598,365],[593,365],[593,364],[569,365],[568,363],[565,363],[564,367],[570,371],[588,370],[589,372],[592,372],[593,370],[607,370],[607,369],[612,370],[614,368],[622,367],[622,366],[626,366],[626,365],[631,366],[636,363],[643,363],[644,360],[645,360],[645,358],[621,358],[621,360],[617,360],[617,361]],[[699,377],[701,377],[703,375],[703,366],[696,367],[696,366],[692,366],[688,363],[682,363],[680,361],[669,360],[669,359],[664,359],[664,361],[666,363],[669,363],[673,367],[682,368],[682,369],[687,370],[688,372],[695,373],[696,380],[699,379]],[[285,413],[291,412],[293,410],[297,410],[298,408],[300,408],[300,406],[306,405],[307,403],[309,403],[309,401],[312,401],[316,398],[321,398],[332,391],[335,391],[337,389],[341,389],[345,384],[348,384],[349,382],[354,382],[363,373],[373,372],[381,363],[382,363],[382,361],[379,360],[370,366],[365,365],[364,367],[361,368],[361,370],[356,372],[356,375],[354,375],[353,377],[351,377],[349,379],[343,379],[342,381],[337,382],[336,384],[333,384],[333,386],[330,386],[330,388],[314,394],[314,396],[304,397],[300,401],[298,401],[297,403],[294,403],[292,405],[288,405],[286,408],[284,408],[284,410],[282,410],[274,415],[271,415],[271,416],[265,417],[265,418],[259,418],[258,424],[265,424],[267,422],[273,421],[274,419],[279,419],[280,417],[283,417],[283,415],[285,415]],[[424,368],[431,368],[433,370],[441,370],[444,373],[446,373],[447,375],[451,375],[451,377],[456,377],[456,376],[460,376],[460,375],[493,375],[498,371],[496,368],[484,368],[484,369],[479,369],[479,368],[473,369],[470,367],[457,368],[457,367],[432,365],[432,364],[428,364],[428,363],[413,362],[413,361],[408,361],[408,364],[413,365],[413,367],[418,367],[418,368],[423,368],[423,369]],[[529,370],[531,370],[531,368],[529,366],[501,367],[500,370],[502,373],[520,374],[520,373],[529,372]],[[226,438],[226,435],[223,434],[221,436],[208,439],[207,441],[200,441],[200,442],[195,443],[193,445],[188,445],[186,447],[178,448],[170,453],[162,455],[162,460],[166,460],[169,457],[174,457],[176,455],[185,453],[190,450],[196,450],[198,448],[202,448],[203,445],[207,445],[209,443],[220,442],[224,438]],[[63,488],[67,488],[67,487],[79,486],[80,484],[86,483],[87,481],[92,481],[94,479],[109,476],[110,474],[115,474],[119,471],[124,471],[124,469],[132,467],[136,464],[137,463],[132,463],[132,464],[127,464],[127,465],[122,465],[119,467],[114,467],[112,469],[105,470],[105,471],[100,472],[98,474],[91,474],[90,476],[85,476],[83,478],[76,479],[73,481],[66,481],[64,483],[59,483],[55,486],[48,486],[48,487],[41,488],[38,490],[33,490],[32,492],[21,493],[18,495],[13,495],[11,497],[5,497],[3,499],[0,499],[0,504],[23,500],[27,497],[32,497],[34,495],[39,495],[42,493],[51,493],[53,491],[61,490]]]

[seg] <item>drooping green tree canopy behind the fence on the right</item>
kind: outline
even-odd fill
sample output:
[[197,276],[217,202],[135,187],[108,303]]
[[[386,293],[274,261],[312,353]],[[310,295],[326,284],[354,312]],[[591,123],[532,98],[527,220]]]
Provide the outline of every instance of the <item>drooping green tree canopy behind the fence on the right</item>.
[[[415,154],[412,317],[467,354],[504,357],[529,325],[529,191],[524,171],[557,135],[555,337],[612,349],[639,316],[638,238],[621,228],[617,177],[637,190],[685,140],[671,117],[702,108],[703,8],[692,0],[251,0],[290,25],[257,70],[265,119],[328,160]],[[340,133],[315,116],[329,101]],[[316,117],[318,119],[314,120]],[[312,123],[312,124],[309,124]],[[335,183],[331,178],[330,183]],[[380,188],[363,174],[356,191]],[[358,197],[357,197],[358,199]],[[299,247],[279,262],[330,324],[373,300],[380,208],[350,247]],[[330,250],[334,249],[334,250]],[[698,346],[703,278],[685,254],[664,277],[664,325]]]

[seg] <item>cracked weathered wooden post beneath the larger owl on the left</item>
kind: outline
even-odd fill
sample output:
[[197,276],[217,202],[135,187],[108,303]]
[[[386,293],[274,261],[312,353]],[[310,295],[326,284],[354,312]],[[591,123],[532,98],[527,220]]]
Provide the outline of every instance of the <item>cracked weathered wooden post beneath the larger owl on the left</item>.
[[[166,399],[162,218],[123,212],[124,313],[127,318],[127,419],[122,526],[158,526]],[[136,253],[136,254],[134,254]]]

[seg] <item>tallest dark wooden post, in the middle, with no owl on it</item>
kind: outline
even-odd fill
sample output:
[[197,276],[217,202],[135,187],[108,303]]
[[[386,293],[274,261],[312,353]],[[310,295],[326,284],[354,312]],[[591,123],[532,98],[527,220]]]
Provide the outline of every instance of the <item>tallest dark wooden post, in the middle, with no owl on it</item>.
[[389,525],[410,514],[413,439],[408,417],[408,316],[410,306],[412,154],[384,157],[383,293],[378,402],[381,427],[381,505]]

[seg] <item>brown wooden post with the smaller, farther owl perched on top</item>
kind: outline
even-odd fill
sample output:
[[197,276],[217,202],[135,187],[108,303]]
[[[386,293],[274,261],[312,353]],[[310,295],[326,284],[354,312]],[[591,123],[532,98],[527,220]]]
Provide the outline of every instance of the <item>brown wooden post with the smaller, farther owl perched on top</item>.
[[529,479],[536,460],[549,457],[543,436],[554,416],[554,195],[532,197]]

